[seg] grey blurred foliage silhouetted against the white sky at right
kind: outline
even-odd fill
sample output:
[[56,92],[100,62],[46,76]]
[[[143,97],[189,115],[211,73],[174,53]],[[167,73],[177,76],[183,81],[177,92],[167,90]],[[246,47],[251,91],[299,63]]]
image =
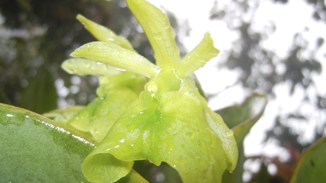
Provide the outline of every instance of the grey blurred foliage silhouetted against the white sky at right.
[[[271,1],[283,5],[288,3],[287,0]],[[253,21],[253,15],[259,7],[260,2],[230,0],[227,6],[221,8],[218,6],[218,1],[216,1],[215,7],[213,7],[211,12],[211,19],[226,22],[231,31],[236,31],[240,35],[239,39],[233,42],[233,47],[228,52],[222,67],[225,66],[229,69],[240,68],[242,71],[242,76],[240,77],[242,86],[250,91],[269,93],[270,98],[276,97],[273,90],[274,86],[283,82],[290,83],[290,95],[293,95],[295,90],[297,90],[297,86],[304,88],[304,90],[307,88],[316,89],[318,86],[315,85],[310,74],[319,74],[321,72],[321,61],[315,58],[315,53],[324,44],[324,39],[319,37],[315,40],[315,50],[310,53],[308,58],[301,56],[301,53],[307,49],[308,41],[305,40],[303,32],[300,32],[301,30],[298,30],[293,35],[292,46],[289,48],[289,53],[286,58],[280,58],[277,53],[264,49],[261,43],[273,34],[276,25],[275,22],[268,22],[268,26],[264,27],[261,32],[255,31],[252,28],[255,23]],[[305,2],[314,7],[313,20],[326,22],[325,1],[306,0]],[[309,31],[309,27],[306,27],[305,31]],[[285,66],[285,71],[277,71],[276,67],[278,63]],[[325,113],[325,98],[326,96],[320,96],[319,94],[311,97],[305,91],[304,99],[301,103],[313,104],[314,108],[321,109]],[[319,139],[324,131],[324,127],[316,127],[314,132],[315,136],[312,141],[300,141],[299,136],[301,134],[293,132],[289,123],[293,121],[295,123],[300,123],[301,121],[307,122],[314,119],[309,119],[309,116],[302,115],[299,108],[300,106],[293,114],[276,116],[274,128],[267,133],[265,140],[276,139],[278,144],[286,148],[290,155],[294,155],[295,153],[293,154],[293,152],[302,153],[311,143]],[[316,123],[325,124],[325,121],[316,121]],[[280,162],[277,158],[269,159],[267,157],[256,157],[254,159],[259,159],[261,168],[252,177],[251,182],[288,182],[298,161],[297,157],[291,157],[288,162]],[[266,166],[270,163],[276,165],[278,169],[278,173],[274,176],[267,172]]]

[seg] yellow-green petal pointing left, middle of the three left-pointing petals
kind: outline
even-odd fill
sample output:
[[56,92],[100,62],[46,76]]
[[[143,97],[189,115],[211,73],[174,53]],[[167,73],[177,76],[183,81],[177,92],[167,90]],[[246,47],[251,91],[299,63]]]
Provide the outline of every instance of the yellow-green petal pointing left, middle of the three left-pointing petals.
[[81,46],[71,53],[71,56],[83,57],[99,63],[107,63],[149,78],[155,77],[159,72],[155,64],[138,53],[100,41]]

